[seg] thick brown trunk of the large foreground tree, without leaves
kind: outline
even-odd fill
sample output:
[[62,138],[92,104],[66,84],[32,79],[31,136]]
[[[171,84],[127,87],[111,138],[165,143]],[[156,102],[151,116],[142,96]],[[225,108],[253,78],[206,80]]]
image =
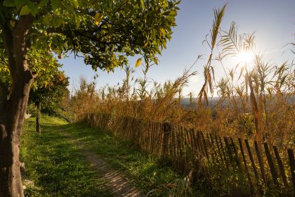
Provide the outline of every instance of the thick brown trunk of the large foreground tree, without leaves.
[[[20,134],[25,120],[29,89],[33,82],[27,66],[25,37],[32,25],[32,15],[20,16],[13,30],[1,24],[8,69],[11,73],[11,94],[0,96],[0,196],[24,196],[20,175]],[[4,94],[3,91],[0,94]]]

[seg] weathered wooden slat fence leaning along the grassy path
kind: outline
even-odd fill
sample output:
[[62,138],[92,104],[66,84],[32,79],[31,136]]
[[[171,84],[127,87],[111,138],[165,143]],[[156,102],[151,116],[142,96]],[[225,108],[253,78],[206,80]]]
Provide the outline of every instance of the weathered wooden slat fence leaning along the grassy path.
[[168,122],[144,122],[110,114],[88,114],[85,121],[91,127],[107,129],[120,139],[132,141],[155,158],[171,161],[181,173],[194,170],[206,176],[215,169],[219,176],[226,176],[223,172],[228,170],[244,179],[252,193],[262,194],[266,186],[294,195],[294,147],[270,146],[267,142],[205,134]]

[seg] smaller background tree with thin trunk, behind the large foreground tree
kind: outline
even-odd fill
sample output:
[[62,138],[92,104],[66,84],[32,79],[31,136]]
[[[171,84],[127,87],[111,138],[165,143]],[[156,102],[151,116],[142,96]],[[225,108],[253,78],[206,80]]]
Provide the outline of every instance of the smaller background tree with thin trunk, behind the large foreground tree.
[[[11,79],[4,50],[0,49],[0,57],[2,63],[1,70],[3,71],[0,72],[2,74],[0,82],[9,87]],[[58,63],[51,53],[31,49],[27,53],[27,62],[30,65],[30,70],[35,72],[37,76],[29,93],[29,103],[34,103],[37,107],[36,130],[40,133],[39,113],[41,103],[45,104],[47,108],[56,106],[55,103],[58,103],[68,91],[69,81],[68,77],[65,77],[65,74],[58,70],[62,65]],[[46,65],[46,67],[43,65]]]

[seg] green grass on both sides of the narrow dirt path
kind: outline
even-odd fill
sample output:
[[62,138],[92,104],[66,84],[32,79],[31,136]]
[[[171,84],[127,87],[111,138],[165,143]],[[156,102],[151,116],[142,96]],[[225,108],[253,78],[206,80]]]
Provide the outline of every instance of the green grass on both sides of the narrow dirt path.
[[151,191],[149,196],[169,196],[173,193],[169,184],[180,179],[170,167],[158,165],[151,155],[140,153],[105,131],[48,116],[41,117],[41,131],[41,135],[35,132],[34,119],[25,122],[21,146],[21,160],[26,166],[22,175],[25,196],[111,196],[103,189],[103,180],[96,179],[84,163],[82,147],[72,144],[61,132],[83,141],[83,148],[100,155],[114,170],[124,172],[143,193]]

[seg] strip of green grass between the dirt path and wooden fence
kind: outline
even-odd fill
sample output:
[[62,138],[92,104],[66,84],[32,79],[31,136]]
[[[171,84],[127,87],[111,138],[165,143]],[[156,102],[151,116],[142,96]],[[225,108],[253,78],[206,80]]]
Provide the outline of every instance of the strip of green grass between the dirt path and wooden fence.
[[166,184],[175,182],[179,175],[170,167],[160,167],[151,155],[132,148],[101,129],[85,125],[63,125],[63,130],[75,139],[84,142],[85,147],[97,153],[111,165],[114,170],[121,170],[134,180],[134,184],[149,196],[169,196],[171,191]]

